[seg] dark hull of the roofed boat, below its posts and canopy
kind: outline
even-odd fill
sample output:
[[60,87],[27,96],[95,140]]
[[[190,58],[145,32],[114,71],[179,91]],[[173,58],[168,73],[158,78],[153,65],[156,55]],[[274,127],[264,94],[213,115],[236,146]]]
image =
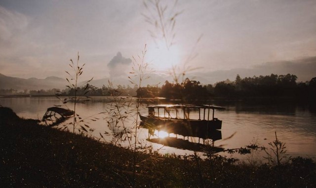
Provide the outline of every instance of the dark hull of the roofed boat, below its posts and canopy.
[[139,115],[142,120],[142,126],[147,129],[164,131],[182,136],[211,138],[214,130],[222,128],[222,121],[214,120],[184,120],[168,119],[158,117],[148,117]]

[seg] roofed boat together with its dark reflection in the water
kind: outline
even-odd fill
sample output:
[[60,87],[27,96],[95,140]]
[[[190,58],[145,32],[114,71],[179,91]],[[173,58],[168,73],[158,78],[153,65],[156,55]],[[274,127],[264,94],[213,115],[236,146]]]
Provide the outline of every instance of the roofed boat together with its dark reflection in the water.
[[[151,142],[180,149],[202,151],[205,147],[205,140],[212,140],[214,143],[214,141],[222,139],[222,132],[218,130],[222,128],[222,121],[214,117],[214,110],[223,110],[225,109],[223,107],[193,104],[161,104],[147,106],[147,108],[148,116],[141,114],[139,116],[142,120],[141,126],[148,129],[148,140]],[[163,111],[160,109],[163,109]],[[210,109],[212,110],[211,119]],[[196,112],[196,114],[190,117],[190,112]],[[156,130],[174,134],[176,138],[150,139],[150,136],[154,135]],[[183,139],[177,138],[177,135],[183,136]],[[186,137],[188,138],[187,140],[185,140]],[[191,140],[198,140],[198,142],[189,141],[189,137],[193,138]],[[200,143],[200,139],[203,140],[202,143]],[[213,149],[216,152],[222,150],[219,147],[214,147]]]

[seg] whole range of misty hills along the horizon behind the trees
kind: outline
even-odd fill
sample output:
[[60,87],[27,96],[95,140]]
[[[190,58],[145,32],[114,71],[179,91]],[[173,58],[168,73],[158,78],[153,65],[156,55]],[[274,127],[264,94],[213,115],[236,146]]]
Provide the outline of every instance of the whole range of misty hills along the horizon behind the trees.
[[[189,72],[185,75],[177,75],[178,82],[181,83],[184,79],[189,78],[190,80],[199,81],[202,85],[214,84],[216,82],[236,79],[237,74],[241,78],[253,77],[253,76],[266,76],[271,74],[286,75],[294,74],[298,77],[297,82],[310,81],[312,78],[316,77],[316,56],[297,59],[293,61],[277,61],[277,62],[267,62],[261,65],[257,65],[251,68],[235,68],[230,70],[203,70],[197,69],[195,72]],[[130,75],[129,75],[130,76]],[[174,82],[173,76],[166,73],[155,72],[146,75],[149,76],[148,79],[142,81],[141,86],[146,87],[147,85],[158,85],[161,86],[166,80],[169,82]],[[132,76],[131,76],[132,77]],[[133,77],[132,77],[133,78]],[[136,78],[136,77],[135,77]],[[98,80],[92,80],[91,85],[101,88],[103,85],[108,86],[108,81],[111,80],[114,87],[118,85],[129,85],[134,87],[128,80],[128,75],[121,75],[114,78],[104,78]],[[80,82],[79,86],[84,85],[85,82]],[[135,84],[139,84],[139,81],[135,81]],[[68,82],[59,77],[50,76],[45,79],[29,78],[22,79],[16,77],[9,77],[0,74],[0,89],[14,89],[18,91],[27,90],[47,90],[47,89],[65,89]]]

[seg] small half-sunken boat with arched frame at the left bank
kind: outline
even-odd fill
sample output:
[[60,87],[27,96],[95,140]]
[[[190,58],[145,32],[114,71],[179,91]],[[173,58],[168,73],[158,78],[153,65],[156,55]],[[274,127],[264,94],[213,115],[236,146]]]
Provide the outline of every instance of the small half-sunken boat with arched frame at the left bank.
[[54,106],[47,108],[42,121],[44,121],[48,126],[55,126],[64,122],[66,119],[73,117],[74,115],[75,112],[72,110]]

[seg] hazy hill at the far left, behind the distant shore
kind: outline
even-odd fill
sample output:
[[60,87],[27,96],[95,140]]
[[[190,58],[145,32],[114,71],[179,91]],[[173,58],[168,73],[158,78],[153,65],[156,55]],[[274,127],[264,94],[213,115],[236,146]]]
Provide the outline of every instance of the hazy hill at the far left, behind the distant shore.
[[37,78],[16,78],[0,74],[0,89],[22,90],[47,90],[47,89],[65,89],[67,81],[63,78],[50,76],[45,79]]

